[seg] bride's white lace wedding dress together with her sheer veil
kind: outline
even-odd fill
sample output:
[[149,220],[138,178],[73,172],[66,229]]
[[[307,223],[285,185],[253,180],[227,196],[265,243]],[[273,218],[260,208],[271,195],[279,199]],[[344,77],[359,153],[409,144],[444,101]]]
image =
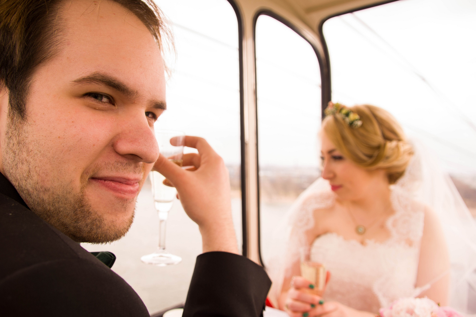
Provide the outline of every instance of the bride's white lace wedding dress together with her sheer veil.
[[[463,313],[476,312],[471,308],[471,303],[476,302],[476,292],[471,293],[476,289],[476,222],[432,155],[421,144],[416,145],[416,154],[404,176],[391,185],[395,213],[386,222],[388,240],[366,240],[362,245],[336,233],[326,233],[313,241],[311,259],[324,263],[331,272],[325,299],[377,314],[379,308],[388,307],[398,298],[418,296],[441,278],[434,277],[428,285],[416,287],[427,206],[443,224],[450,251],[450,306]],[[328,182],[320,178],[297,198],[276,229],[277,242],[265,261],[273,281],[269,297],[275,305],[283,281],[296,274],[299,249],[308,245],[306,232],[318,221],[314,211],[329,208],[334,200]]]

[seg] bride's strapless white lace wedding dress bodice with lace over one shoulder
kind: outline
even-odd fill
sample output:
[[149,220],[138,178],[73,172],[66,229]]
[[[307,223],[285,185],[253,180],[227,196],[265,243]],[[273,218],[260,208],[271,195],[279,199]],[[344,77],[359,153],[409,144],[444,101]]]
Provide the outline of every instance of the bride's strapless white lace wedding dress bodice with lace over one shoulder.
[[385,242],[361,244],[329,232],[312,243],[311,260],[324,263],[332,274],[324,299],[377,314],[380,307],[422,291],[415,282],[424,208],[396,190],[391,198],[395,213],[387,219]]

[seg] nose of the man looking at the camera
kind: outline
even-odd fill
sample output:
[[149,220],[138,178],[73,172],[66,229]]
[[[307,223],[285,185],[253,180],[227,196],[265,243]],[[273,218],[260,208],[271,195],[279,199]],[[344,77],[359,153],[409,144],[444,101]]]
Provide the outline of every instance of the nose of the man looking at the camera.
[[120,121],[120,132],[113,141],[114,150],[138,162],[155,163],[159,158],[159,144],[145,114],[129,114]]

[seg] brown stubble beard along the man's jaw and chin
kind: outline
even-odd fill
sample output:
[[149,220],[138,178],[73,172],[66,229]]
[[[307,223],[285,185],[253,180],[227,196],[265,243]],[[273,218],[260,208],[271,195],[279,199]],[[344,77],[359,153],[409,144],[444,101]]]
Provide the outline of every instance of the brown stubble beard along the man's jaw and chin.
[[[38,163],[41,160],[37,159],[42,154],[38,144],[29,140],[26,123],[16,119],[8,120],[5,149],[2,153],[5,176],[31,211],[76,242],[112,242],[119,240],[129,231],[134,220],[134,211],[125,221],[108,221],[89,203],[85,193],[86,183],[88,174],[91,175],[94,169],[81,177],[79,192],[74,192],[71,182],[52,182],[51,187],[43,186],[39,172],[42,166]],[[124,165],[111,163],[106,168],[121,170],[122,166],[124,170],[127,168]],[[119,213],[129,209],[130,204],[135,202],[134,199],[133,202],[120,203],[117,206]]]

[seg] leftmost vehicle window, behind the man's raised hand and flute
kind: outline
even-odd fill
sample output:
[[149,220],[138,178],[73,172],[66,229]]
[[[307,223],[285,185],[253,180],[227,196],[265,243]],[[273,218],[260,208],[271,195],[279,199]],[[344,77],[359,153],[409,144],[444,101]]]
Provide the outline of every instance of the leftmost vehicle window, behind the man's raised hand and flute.
[[[174,129],[207,139],[228,166],[238,246],[241,248],[241,145],[238,20],[227,0],[156,0],[169,18],[177,56],[168,54],[167,108],[156,129]],[[219,27],[217,27],[219,26]],[[117,256],[113,270],[139,294],[150,313],[183,303],[202,244],[198,226],[175,201],[167,221],[166,247],[182,257],[169,267],[143,264],[155,251],[159,219],[149,181],[139,194],[128,234],[110,245],[83,244]]]

